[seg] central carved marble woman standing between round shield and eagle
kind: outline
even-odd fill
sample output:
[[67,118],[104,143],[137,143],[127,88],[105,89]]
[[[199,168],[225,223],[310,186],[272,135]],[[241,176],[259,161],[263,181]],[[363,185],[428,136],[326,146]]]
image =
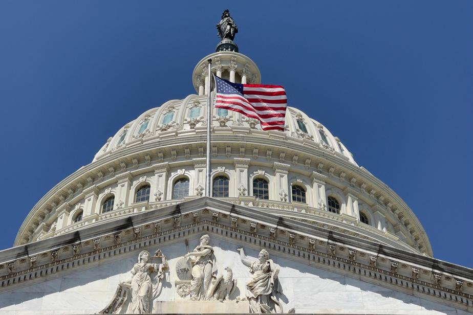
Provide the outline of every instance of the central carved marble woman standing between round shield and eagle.
[[193,252],[184,255],[185,258],[190,258],[192,263],[191,300],[209,300],[212,295],[209,289],[212,279],[217,276],[217,264],[213,248],[208,245],[209,241],[210,237],[207,234],[202,235],[200,245]]

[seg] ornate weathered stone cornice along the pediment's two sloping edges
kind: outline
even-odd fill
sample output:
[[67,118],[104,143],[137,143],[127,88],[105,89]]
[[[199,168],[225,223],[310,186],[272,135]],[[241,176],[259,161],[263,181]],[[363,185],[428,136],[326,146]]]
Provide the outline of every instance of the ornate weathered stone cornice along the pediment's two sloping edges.
[[[196,211],[198,215],[195,215]],[[177,225],[176,218],[179,218]],[[232,224],[232,218],[238,221],[238,226]],[[112,226],[123,226],[123,229],[117,231],[111,229]],[[34,282],[37,278],[41,281],[52,272],[69,273],[79,265],[97,264],[98,257],[100,260],[107,259],[149,244],[161,243],[164,238],[169,239],[168,235],[172,235],[170,239],[174,241],[184,235],[189,237],[195,234],[197,237],[200,234],[197,227],[217,235],[225,235],[220,231],[229,231],[246,246],[264,243],[263,247],[278,256],[306,264],[310,262],[315,267],[336,273],[355,274],[362,281],[392,289],[409,288],[416,295],[461,309],[473,303],[471,269],[341,233],[314,229],[310,224],[206,197],[182,202],[178,208],[170,206],[155,212],[137,213],[130,219],[122,218],[99,227],[84,228],[79,232],[39,241],[34,250],[23,252],[25,256],[18,255],[23,251],[19,247],[3,251],[0,253],[0,291]],[[440,294],[433,295],[433,290]]]

